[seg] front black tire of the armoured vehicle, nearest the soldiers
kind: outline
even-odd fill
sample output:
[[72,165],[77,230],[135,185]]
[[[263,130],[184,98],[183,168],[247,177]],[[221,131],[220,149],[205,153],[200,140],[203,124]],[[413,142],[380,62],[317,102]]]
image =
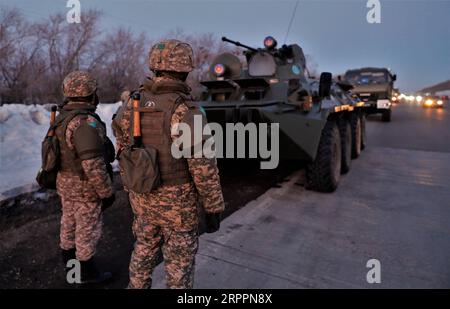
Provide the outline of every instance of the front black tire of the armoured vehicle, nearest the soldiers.
[[341,174],[341,139],[334,121],[322,130],[316,159],[306,165],[305,188],[319,192],[336,190]]

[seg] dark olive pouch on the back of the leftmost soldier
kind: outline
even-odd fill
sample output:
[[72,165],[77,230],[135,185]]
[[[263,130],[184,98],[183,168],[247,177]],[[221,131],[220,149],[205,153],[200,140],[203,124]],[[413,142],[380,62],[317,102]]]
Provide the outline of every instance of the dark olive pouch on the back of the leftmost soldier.
[[56,136],[46,136],[42,141],[42,166],[36,176],[41,188],[56,189],[60,148]]

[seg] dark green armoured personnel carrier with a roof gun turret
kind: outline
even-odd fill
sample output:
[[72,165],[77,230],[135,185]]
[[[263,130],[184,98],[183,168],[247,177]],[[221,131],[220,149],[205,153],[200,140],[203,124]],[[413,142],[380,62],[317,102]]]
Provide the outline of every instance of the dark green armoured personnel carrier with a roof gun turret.
[[280,157],[305,163],[305,187],[336,190],[363,147],[364,103],[349,99],[331,73],[310,78],[298,44],[278,48],[270,36],[263,48],[222,40],[244,48],[246,63],[231,53],[211,63],[198,103],[208,122],[278,125]]

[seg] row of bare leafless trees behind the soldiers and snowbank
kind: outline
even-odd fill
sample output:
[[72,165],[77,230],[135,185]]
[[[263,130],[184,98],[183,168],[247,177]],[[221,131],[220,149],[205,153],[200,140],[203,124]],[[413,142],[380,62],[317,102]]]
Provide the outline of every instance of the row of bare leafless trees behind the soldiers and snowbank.
[[[0,100],[1,102],[60,102],[61,83],[74,70],[88,70],[99,82],[102,102],[114,102],[124,90],[136,89],[148,71],[152,44],[143,34],[119,28],[100,36],[101,13],[87,11],[79,24],[69,24],[63,14],[28,23],[17,9],[0,14]],[[200,81],[222,52],[240,57],[242,51],[224,44],[213,34],[187,34],[177,28],[164,36],[191,44],[195,69],[188,78],[198,97]],[[151,74],[151,73],[150,73]]]

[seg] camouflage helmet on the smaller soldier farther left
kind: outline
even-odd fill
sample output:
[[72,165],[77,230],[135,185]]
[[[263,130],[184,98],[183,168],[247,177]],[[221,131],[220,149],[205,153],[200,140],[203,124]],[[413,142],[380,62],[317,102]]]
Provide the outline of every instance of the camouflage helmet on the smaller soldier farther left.
[[74,71],[63,81],[63,94],[66,97],[88,97],[97,90],[97,81],[87,72]]

